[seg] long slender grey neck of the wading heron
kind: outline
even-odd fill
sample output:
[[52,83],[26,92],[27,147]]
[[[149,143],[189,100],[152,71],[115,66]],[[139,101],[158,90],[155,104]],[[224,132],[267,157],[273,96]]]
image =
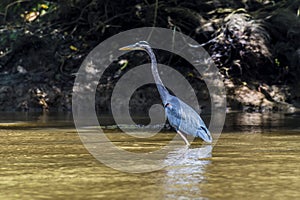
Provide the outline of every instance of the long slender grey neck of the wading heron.
[[165,104],[167,95],[169,94],[168,90],[166,89],[166,87],[164,86],[164,84],[162,83],[159,73],[158,73],[158,69],[157,69],[157,61],[156,61],[156,57],[152,51],[151,48],[147,48],[146,49],[147,53],[149,54],[150,58],[151,58],[151,71],[152,71],[152,75],[154,77],[154,81],[156,83],[158,92],[162,98],[163,103]]

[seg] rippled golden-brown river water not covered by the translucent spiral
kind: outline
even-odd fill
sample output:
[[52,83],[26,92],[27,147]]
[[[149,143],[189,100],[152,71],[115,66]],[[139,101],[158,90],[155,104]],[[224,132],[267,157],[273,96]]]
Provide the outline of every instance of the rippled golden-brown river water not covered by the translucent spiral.
[[[286,118],[269,117],[268,124],[278,121],[269,126],[255,124],[252,118],[246,116],[246,124],[231,123],[211,157],[199,159],[195,145],[188,159],[142,174],[101,164],[84,148],[76,130],[69,124],[65,128],[62,121],[5,121],[0,127],[0,199],[299,199],[297,116],[291,124]],[[151,142],[160,145],[173,134]],[[124,149],[134,150],[135,145],[116,131],[108,135]],[[149,142],[136,148],[143,145]]]

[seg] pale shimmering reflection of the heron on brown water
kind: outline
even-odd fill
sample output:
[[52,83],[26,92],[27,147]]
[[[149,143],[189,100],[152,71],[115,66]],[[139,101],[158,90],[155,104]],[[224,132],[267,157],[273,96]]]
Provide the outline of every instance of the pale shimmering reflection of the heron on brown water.
[[[174,154],[184,154],[180,159],[174,160]],[[181,197],[201,196],[199,183],[205,181],[205,170],[211,163],[212,145],[203,145],[200,148],[178,149],[177,152],[169,154],[166,162],[169,166],[165,168],[164,179],[165,197],[167,199],[179,199]]]

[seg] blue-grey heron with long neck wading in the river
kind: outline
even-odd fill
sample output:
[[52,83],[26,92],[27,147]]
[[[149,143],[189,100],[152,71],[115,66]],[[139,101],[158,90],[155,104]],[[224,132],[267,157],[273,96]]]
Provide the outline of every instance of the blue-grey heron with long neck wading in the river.
[[200,115],[179,98],[171,95],[162,83],[158,74],[156,57],[149,43],[146,41],[140,41],[133,45],[122,47],[120,50],[143,50],[148,53],[151,58],[152,75],[162,99],[166,116],[170,125],[182,137],[186,145],[189,146],[190,143],[184,134],[200,137],[205,142],[211,143],[211,134],[206,128]]

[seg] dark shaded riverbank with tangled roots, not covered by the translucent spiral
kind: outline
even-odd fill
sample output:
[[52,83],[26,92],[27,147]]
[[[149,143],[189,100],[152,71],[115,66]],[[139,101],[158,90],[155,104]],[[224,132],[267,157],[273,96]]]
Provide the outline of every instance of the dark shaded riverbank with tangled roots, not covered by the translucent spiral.
[[[199,43],[210,41],[204,47],[223,76],[228,109],[296,112],[300,107],[299,2],[157,1],[123,5],[110,1],[103,5],[95,1],[3,1],[0,111],[71,111],[76,72],[97,44],[125,30],[157,26],[181,31]],[[131,62],[125,70],[115,63],[101,78],[99,111],[110,112],[110,95],[118,78],[146,59],[135,56],[128,56]],[[166,58],[161,60],[169,62]],[[206,87],[190,72],[181,71],[199,93],[206,112]],[[155,88],[147,92],[157,93]],[[144,100],[131,102],[136,112],[145,112],[145,105],[158,102],[159,96],[146,95]]]

